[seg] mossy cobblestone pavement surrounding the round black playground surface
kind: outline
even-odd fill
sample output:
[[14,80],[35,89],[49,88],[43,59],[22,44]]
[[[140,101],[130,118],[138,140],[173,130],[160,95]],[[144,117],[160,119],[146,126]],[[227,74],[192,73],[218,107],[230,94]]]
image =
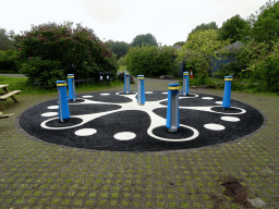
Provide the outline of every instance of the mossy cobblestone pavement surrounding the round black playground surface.
[[[146,90],[165,90],[168,83],[146,81]],[[222,96],[221,90],[192,93]],[[167,152],[47,144],[24,134],[19,118],[57,95],[19,95],[19,103],[1,102],[3,113],[14,115],[0,120],[0,208],[279,208],[279,97],[231,97],[264,114],[257,132],[232,143]]]

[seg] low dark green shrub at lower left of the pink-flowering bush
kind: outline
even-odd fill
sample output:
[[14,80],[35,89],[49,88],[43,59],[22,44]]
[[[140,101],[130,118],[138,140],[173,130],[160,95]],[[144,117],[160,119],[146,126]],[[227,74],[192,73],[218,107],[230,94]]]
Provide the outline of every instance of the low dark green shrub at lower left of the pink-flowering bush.
[[41,60],[33,58],[27,60],[21,69],[21,73],[28,77],[29,83],[40,82],[46,89],[52,89],[57,86],[57,81],[65,81],[66,76],[61,70],[60,61]]

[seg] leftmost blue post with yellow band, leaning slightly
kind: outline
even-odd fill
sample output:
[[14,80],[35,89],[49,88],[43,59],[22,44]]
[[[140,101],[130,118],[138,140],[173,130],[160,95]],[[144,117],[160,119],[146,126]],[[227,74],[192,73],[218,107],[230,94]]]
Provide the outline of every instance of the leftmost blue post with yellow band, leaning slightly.
[[58,116],[60,121],[63,122],[63,120],[68,120],[70,118],[65,81],[57,81],[57,88],[59,102]]

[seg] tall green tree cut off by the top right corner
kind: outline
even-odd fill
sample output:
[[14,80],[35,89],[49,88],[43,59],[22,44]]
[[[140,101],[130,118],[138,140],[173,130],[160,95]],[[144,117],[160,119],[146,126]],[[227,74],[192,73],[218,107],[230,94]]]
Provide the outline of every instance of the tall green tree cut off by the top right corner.
[[257,16],[251,15],[251,39],[256,42],[266,42],[269,52],[272,51],[272,41],[279,38],[279,2],[266,2]]

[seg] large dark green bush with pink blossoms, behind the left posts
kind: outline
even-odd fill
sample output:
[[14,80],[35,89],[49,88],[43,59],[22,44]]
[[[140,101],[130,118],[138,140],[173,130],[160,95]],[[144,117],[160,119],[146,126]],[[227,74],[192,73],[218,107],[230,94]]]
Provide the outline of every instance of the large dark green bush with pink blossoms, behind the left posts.
[[[92,29],[84,28],[81,24],[77,24],[76,29],[72,29],[72,22],[59,26],[52,23],[43,24],[33,26],[31,32],[17,36],[20,58],[26,62],[22,72],[31,75],[29,79],[39,79],[46,83],[45,87],[53,87],[54,83],[50,85],[47,82],[51,71],[44,67],[45,64],[61,71],[63,75],[73,73],[78,78],[94,77],[97,72],[107,71],[116,76],[118,63],[113,52]],[[32,71],[38,73],[34,74]],[[56,73],[56,75],[60,78],[61,74]]]

